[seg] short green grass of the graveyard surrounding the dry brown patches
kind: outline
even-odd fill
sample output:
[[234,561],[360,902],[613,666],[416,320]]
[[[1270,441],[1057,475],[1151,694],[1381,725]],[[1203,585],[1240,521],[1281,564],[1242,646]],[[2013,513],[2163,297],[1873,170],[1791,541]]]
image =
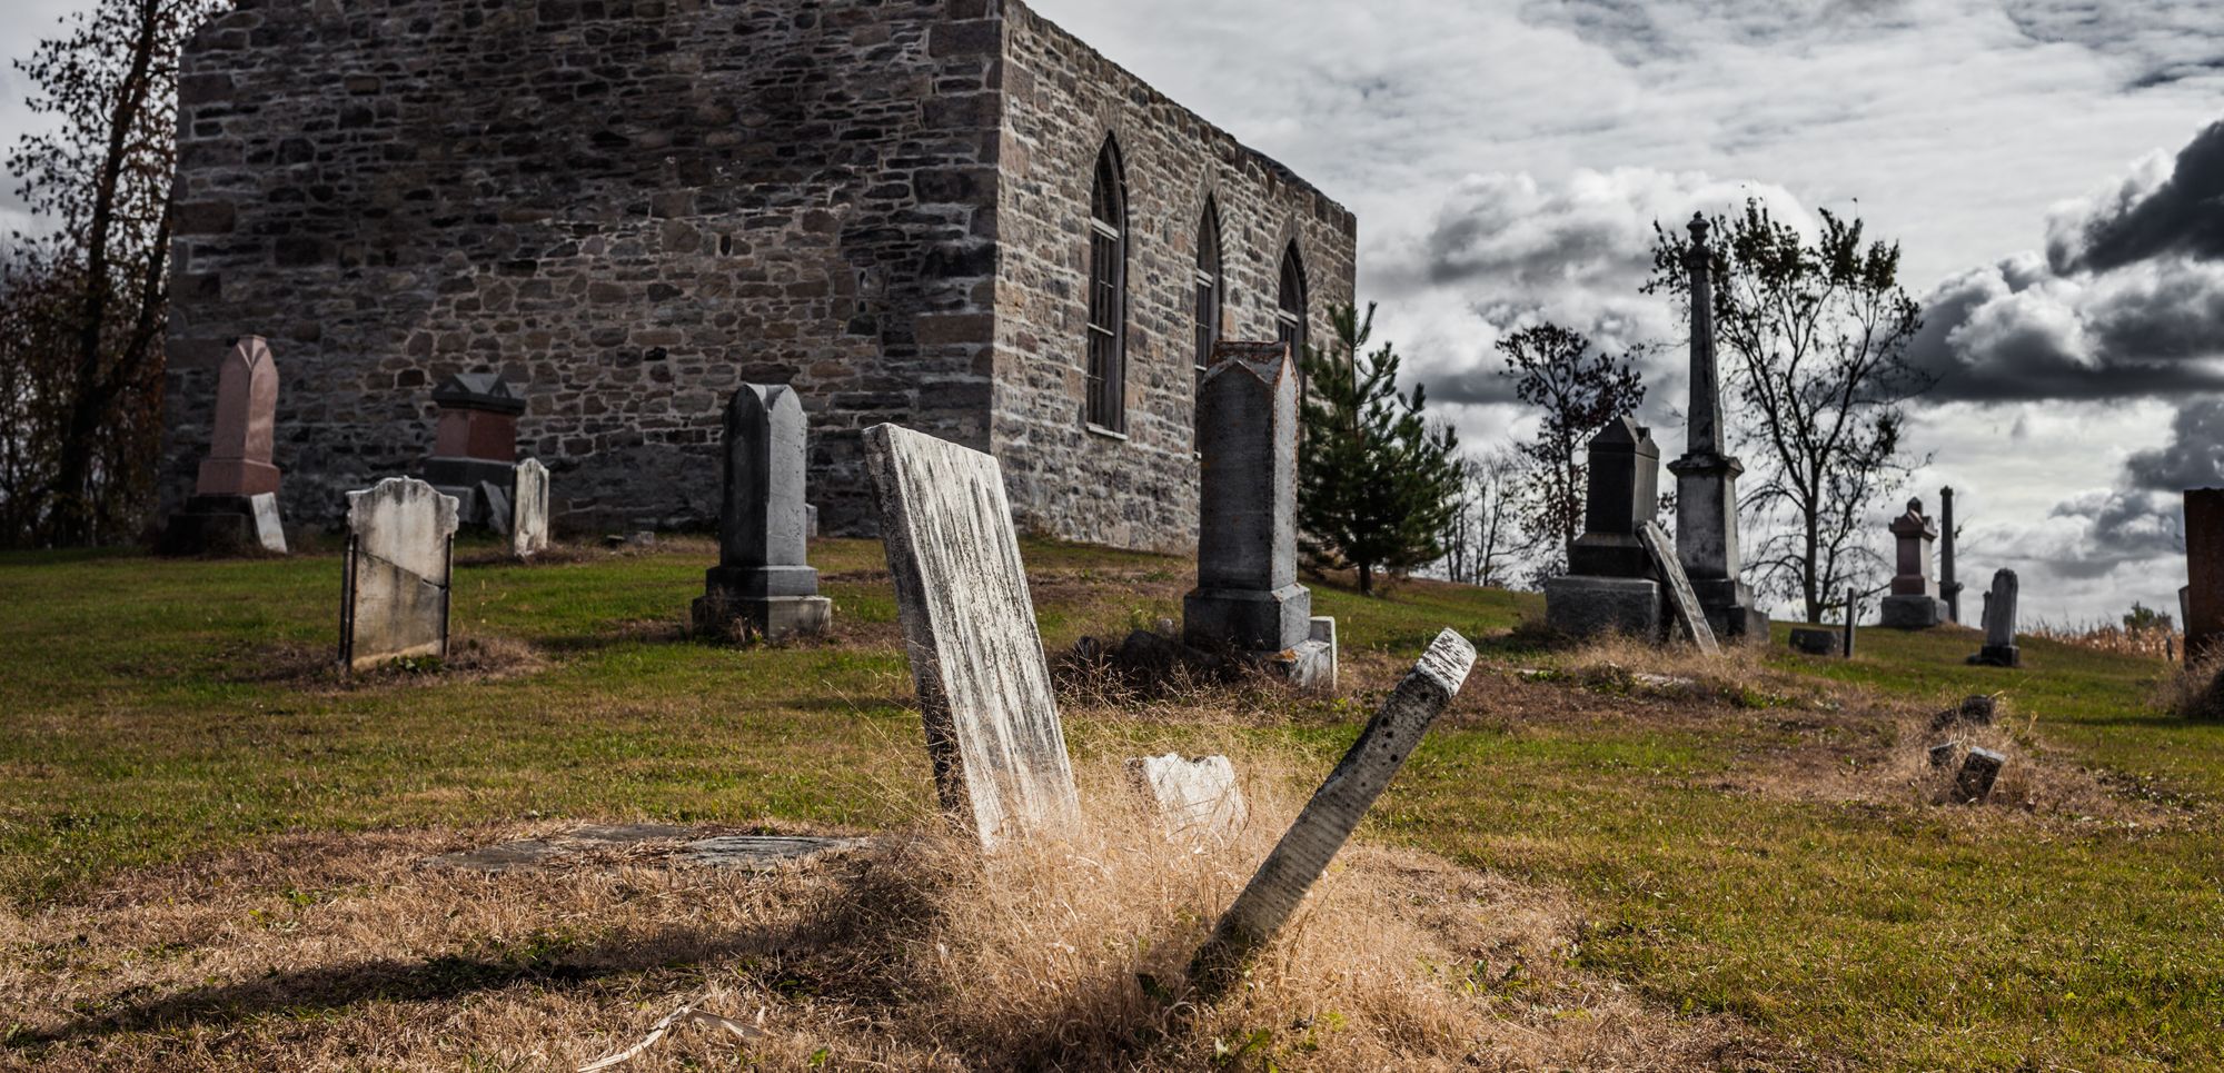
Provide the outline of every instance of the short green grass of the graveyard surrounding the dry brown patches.
[[[1143,554],[1030,543],[1025,557],[1052,650],[1176,617],[1188,581],[1183,563]],[[821,541],[814,561],[838,606],[836,643],[681,639],[707,565],[707,548],[681,545],[460,568],[458,639],[532,663],[347,683],[318,670],[336,641],[336,557],[0,557],[0,895],[71,899],[285,830],[901,824],[932,790],[881,552]],[[1503,634],[1537,612],[1535,597],[1454,585],[1390,599],[1314,585],[1314,599],[1361,666],[1388,666],[1368,650],[1410,659],[1443,626]],[[1366,835],[1566,890],[1586,919],[1583,966],[1675,1011],[1744,1017],[1817,1062],[2224,1064],[2224,726],[2153,712],[2153,661],[2028,641],[2026,666],[2002,672],[1964,666],[1975,648],[1962,630],[1870,630],[1850,663],[1781,650],[1768,663],[1922,706],[2006,690],[2035,717],[2017,723],[2031,748],[2171,801],[2180,819],[1732,793],[1721,786],[1797,732],[1728,708],[1719,721],[1650,719],[1641,699],[1610,701],[1626,719],[1532,721],[1463,701]],[[1288,708],[1197,739],[1254,735],[1326,766],[1366,715]],[[1123,741],[1088,717],[1070,732],[1081,752]]]

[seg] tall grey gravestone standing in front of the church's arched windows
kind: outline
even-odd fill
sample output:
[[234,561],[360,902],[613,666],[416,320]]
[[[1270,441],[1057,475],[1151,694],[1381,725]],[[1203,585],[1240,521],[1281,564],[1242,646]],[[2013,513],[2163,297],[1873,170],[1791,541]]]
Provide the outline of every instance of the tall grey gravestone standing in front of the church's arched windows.
[[1330,688],[1334,652],[1312,639],[1312,592],[1297,583],[1297,392],[1288,343],[1212,347],[1197,383],[1197,588],[1181,599],[1181,639]]

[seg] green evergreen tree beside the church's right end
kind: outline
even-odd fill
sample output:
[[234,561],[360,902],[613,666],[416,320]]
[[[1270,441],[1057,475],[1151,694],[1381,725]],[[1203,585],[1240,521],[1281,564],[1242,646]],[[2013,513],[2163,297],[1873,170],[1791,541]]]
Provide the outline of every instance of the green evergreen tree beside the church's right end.
[[1305,347],[1303,434],[1297,454],[1297,525],[1319,570],[1357,570],[1374,594],[1379,572],[1401,574],[1443,557],[1441,534],[1459,501],[1459,436],[1421,416],[1423,390],[1397,390],[1390,343],[1366,350],[1374,305],[1332,314],[1330,350]]

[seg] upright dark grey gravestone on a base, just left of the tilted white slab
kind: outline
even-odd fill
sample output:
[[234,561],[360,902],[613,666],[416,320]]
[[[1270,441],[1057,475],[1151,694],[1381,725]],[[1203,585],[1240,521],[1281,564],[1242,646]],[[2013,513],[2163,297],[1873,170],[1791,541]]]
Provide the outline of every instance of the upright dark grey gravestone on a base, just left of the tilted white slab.
[[803,401],[787,385],[745,383],[725,407],[725,499],[718,565],[703,574],[694,623],[723,632],[747,623],[781,641],[825,632],[834,601],[818,594],[805,552]]

